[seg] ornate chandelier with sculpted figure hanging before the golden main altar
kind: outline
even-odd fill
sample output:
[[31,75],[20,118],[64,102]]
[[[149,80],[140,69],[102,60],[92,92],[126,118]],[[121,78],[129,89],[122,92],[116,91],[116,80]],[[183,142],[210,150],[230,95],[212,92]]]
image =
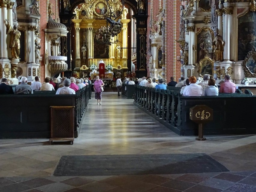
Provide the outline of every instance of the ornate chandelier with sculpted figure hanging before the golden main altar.
[[100,11],[105,17],[106,26],[101,26],[96,32],[96,41],[102,44],[116,44],[118,43],[117,36],[122,29],[121,14],[123,12],[124,0],[105,0],[106,8],[103,7]]

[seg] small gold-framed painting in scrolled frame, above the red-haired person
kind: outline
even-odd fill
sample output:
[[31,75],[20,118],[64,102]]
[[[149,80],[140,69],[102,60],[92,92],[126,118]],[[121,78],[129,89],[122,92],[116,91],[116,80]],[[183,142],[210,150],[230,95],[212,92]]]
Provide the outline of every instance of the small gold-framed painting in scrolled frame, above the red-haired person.
[[208,56],[205,56],[199,62],[199,70],[197,71],[199,76],[203,77],[203,75],[206,75],[206,74],[213,75],[213,66],[214,66],[214,61]]

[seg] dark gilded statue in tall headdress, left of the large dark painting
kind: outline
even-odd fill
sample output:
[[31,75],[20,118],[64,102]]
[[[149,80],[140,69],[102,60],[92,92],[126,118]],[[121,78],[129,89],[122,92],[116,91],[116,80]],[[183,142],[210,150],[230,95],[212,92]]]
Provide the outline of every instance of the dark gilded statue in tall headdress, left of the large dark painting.
[[223,51],[224,51],[224,41],[219,35],[219,30],[218,28],[216,29],[216,36],[213,39],[212,45],[214,46],[214,56],[215,56],[215,61],[223,61]]

